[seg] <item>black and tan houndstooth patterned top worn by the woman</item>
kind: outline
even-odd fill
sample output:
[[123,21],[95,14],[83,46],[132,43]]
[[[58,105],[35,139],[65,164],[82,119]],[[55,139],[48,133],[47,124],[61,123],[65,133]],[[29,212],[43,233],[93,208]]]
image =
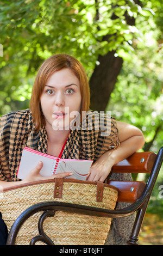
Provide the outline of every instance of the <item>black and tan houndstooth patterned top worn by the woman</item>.
[[[29,108],[0,118],[0,180],[18,180],[16,173],[24,147],[47,153],[45,127],[37,133],[34,128]],[[119,145],[115,118],[88,111],[82,123],[70,131],[61,158],[96,161],[105,151]]]

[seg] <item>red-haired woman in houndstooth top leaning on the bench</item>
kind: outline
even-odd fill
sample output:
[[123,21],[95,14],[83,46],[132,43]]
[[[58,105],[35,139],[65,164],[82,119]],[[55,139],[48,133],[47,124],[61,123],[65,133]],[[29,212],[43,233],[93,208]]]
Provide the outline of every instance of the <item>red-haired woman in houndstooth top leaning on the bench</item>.
[[[93,160],[87,180],[102,182],[114,164],[143,146],[145,139],[137,127],[93,113],[89,105],[89,83],[78,60],[66,54],[47,59],[37,72],[30,108],[0,119],[0,186],[45,179],[39,174],[43,164],[39,162],[24,180],[18,180],[17,168],[26,146],[61,158]],[[89,120],[92,126],[85,129]],[[70,175],[61,173],[51,178]]]

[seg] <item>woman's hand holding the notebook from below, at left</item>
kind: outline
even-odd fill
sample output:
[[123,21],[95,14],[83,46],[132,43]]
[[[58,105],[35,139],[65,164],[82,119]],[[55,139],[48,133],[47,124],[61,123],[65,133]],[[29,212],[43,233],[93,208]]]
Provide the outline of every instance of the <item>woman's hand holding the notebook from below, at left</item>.
[[39,181],[39,180],[49,180],[49,179],[54,179],[54,178],[65,178],[67,176],[73,175],[71,172],[67,173],[59,173],[59,174],[54,174],[49,177],[43,177],[40,175],[40,170],[43,167],[42,161],[37,163],[36,167],[30,171],[30,173],[26,176],[26,178],[23,180],[23,183],[28,183],[32,181]]

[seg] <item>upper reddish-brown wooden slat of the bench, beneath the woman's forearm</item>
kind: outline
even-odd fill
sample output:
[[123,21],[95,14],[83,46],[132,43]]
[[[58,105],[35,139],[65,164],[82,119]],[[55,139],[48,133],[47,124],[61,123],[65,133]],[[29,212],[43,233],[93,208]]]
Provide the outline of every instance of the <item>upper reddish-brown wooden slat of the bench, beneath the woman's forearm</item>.
[[156,154],[153,152],[134,153],[126,160],[115,164],[113,173],[151,173]]

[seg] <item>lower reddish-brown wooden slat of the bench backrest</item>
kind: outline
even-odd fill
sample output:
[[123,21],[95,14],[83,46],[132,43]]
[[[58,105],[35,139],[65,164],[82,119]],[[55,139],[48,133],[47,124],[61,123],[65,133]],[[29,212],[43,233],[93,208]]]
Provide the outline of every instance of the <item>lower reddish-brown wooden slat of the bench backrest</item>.
[[134,203],[141,196],[146,186],[146,183],[143,181],[108,180],[107,182],[109,185],[118,188],[117,202]]

